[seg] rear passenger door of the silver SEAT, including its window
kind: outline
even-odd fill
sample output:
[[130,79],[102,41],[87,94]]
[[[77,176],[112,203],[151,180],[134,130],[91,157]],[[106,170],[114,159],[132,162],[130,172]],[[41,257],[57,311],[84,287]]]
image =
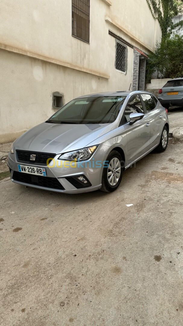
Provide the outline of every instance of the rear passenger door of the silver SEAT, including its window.
[[151,94],[141,94],[142,101],[145,104],[150,122],[150,148],[155,147],[160,142],[160,136],[163,130],[163,115],[158,105],[158,100]]

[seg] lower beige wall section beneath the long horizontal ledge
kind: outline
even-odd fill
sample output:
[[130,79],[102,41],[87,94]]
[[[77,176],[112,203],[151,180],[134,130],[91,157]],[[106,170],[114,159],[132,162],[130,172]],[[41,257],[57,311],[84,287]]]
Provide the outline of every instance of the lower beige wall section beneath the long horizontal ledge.
[[25,130],[48,119],[54,113],[53,92],[62,93],[67,103],[86,94],[128,90],[133,49],[128,51],[125,75],[115,69],[115,39],[109,36],[109,40],[114,50],[109,80],[0,50],[0,142],[13,141]]

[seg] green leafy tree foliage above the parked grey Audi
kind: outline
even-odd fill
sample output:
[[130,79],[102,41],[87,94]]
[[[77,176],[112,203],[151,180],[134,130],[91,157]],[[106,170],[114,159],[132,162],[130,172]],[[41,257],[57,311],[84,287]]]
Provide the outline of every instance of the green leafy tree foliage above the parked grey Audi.
[[183,77],[183,36],[162,38],[162,42],[156,44],[155,53],[149,54],[147,82],[155,71],[161,78]]

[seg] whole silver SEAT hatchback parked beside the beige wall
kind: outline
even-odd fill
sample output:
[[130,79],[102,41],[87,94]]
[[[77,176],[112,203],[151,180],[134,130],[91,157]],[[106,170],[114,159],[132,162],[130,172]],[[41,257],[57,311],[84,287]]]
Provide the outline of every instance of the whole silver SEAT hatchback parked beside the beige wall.
[[11,180],[63,193],[118,188],[122,173],[155,147],[165,151],[166,110],[148,92],[78,97],[13,142]]

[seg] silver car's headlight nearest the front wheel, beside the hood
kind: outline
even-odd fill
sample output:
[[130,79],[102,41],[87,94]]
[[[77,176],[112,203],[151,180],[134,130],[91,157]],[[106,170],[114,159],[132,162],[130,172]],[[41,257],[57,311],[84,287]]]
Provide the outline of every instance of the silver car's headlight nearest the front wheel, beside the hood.
[[91,155],[96,151],[97,146],[78,149],[74,152],[64,153],[59,159],[64,161],[85,161],[88,160]]

